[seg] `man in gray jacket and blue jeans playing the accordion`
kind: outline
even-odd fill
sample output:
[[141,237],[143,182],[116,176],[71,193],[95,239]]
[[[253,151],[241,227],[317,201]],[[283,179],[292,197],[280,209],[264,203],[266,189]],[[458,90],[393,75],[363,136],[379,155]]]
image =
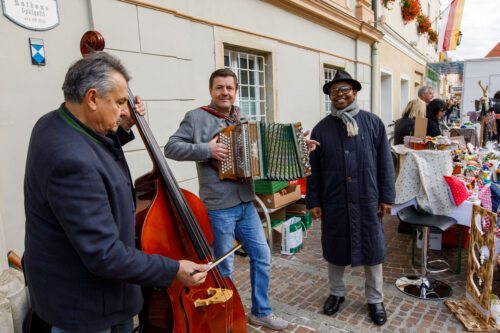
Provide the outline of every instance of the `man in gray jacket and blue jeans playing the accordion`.
[[[212,162],[225,161],[228,147],[218,142],[221,129],[240,123],[239,110],[233,105],[238,80],[228,69],[218,69],[209,80],[210,105],[186,113],[180,127],[165,145],[165,156],[178,161],[196,161],[200,198],[208,209],[214,234],[214,255],[220,257],[234,246],[243,245],[250,257],[252,308],[250,323],[282,330],[288,322],[272,313],[269,302],[271,253],[261,220],[253,206],[252,179],[220,180]],[[218,269],[223,276],[233,275],[233,256]]]

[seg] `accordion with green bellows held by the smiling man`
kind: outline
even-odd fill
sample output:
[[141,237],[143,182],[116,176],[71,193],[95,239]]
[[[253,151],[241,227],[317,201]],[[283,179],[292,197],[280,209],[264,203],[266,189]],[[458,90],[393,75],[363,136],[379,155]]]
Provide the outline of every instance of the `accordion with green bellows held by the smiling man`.
[[219,142],[228,158],[219,161],[219,178],[294,180],[311,174],[301,123],[248,122],[224,128]]

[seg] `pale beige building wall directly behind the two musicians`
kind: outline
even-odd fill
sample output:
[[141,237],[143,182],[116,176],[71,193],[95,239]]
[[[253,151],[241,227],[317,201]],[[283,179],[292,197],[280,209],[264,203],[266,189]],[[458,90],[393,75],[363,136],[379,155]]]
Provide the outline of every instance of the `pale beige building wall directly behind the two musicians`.
[[[37,6],[46,1],[3,2]],[[32,30],[0,15],[2,266],[8,250],[23,252],[23,177],[31,129],[39,117],[62,103],[64,74],[81,57],[79,43],[85,31],[99,31],[105,51],[129,69],[130,87],[144,99],[147,121],[160,146],[188,110],[209,103],[208,78],[221,67],[237,72],[237,103],[252,119],[302,121],[311,129],[327,113],[321,87],[338,68],[362,83],[360,105],[372,108],[372,46],[383,34],[373,25],[368,0],[56,3],[59,24],[49,30]],[[45,66],[32,64],[30,38],[43,43]],[[151,169],[140,138],[125,150],[133,178]],[[194,163],[168,163],[180,186],[197,193]]]

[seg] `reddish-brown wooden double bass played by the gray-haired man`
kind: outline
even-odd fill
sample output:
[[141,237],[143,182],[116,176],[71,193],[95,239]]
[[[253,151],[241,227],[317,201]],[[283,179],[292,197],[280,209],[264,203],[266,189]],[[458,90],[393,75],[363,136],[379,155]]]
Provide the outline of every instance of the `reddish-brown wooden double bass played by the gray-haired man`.
[[[104,49],[97,31],[80,41],[83,55]],[[146,120],[129,104],[153,169],[135,181],[137,201],[136,246],[148,254],[197,263],[212,262],[213,242],[208,213],[193,193],[179,188]],[[211,269],[203,284],[186,287],[174,280],[168,288],[143,289],[144,307],[139,316],[141,333],[244,333],[246,319],[232,280]]]

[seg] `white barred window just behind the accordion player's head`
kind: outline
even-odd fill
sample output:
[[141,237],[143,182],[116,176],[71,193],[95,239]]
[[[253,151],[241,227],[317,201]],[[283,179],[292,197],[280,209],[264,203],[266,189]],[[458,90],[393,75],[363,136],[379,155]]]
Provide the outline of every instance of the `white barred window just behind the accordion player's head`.
[[232,70],[238,77],[238,95],[235,105],[240,108],[242,115],[248,120],[266,121],[265,56],[224,49],[224,67]]

